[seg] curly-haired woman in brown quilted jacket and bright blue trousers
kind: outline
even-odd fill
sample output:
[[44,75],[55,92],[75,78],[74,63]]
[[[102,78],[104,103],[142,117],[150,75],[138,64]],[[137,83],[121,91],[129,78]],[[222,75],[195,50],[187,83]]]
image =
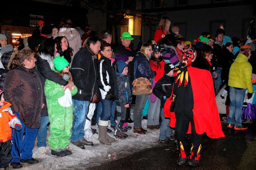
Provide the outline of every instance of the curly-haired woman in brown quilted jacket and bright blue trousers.
[[[41,109],[44,107],[43,88],[38,71],[34,68],[37,54],[24,48],[10,61],[9,71],[4,82],[5,100],[12,104],[11,109],[22,123],[22,129],[12,130],[13,146],[11,154],[13,168],[20,168],[22,163],[35,164],[32,149],[40,127]],[[23,134],[25,136],[23,138]],[[22,153],[21,153],[22,151]]]

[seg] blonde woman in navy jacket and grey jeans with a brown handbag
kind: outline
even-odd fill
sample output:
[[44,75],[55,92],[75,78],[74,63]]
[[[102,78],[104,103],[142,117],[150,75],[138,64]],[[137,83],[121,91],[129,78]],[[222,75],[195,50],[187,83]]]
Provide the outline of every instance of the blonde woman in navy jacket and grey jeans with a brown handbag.
[[[147,78],[151,84],[153,83],[155,72],[152,71],[149,63],[149,56],[152,54],[152,46],[149,44],[142,44],[141,50],[135,55],[134,62],[134,79],[144,77]],[[133,132],[145,135],[147,130],[141,126],[142,110],[150,95],[137,95],[133,111],[134,127]]]

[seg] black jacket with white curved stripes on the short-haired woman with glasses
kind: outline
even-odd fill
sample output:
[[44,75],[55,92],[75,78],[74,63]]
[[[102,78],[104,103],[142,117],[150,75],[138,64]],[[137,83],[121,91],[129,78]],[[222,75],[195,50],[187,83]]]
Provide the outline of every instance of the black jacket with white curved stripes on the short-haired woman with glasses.
[[[98,88],[96,94],[99,99],[118,99],[118,85],[116,80],[116,70],[114,67],[115,64],[116,60],[112,62],[109,58],[106,58],[103,55],[98,61]],[[108,92],[105,90],[106,86],[111,87]]]

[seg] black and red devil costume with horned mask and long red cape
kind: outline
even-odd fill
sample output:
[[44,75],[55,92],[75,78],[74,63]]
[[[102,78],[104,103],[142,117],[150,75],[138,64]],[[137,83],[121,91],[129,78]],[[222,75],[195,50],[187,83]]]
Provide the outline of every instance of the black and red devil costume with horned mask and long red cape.
[[[202,135],[205,132],[210,138],[225,135],[221,128],[211,73],[207,69],[193,67],[192,62],[195,59],[194,48],[191,45],[186,46],[181,64],[174,70],[175,84],[170,111],[175,113],[175,118],[171,116],[170,126],[175,125],[179,156],[189,156],[190,159],[198,161],[201,158]],[[186,133],[191,133],[191,148]]]

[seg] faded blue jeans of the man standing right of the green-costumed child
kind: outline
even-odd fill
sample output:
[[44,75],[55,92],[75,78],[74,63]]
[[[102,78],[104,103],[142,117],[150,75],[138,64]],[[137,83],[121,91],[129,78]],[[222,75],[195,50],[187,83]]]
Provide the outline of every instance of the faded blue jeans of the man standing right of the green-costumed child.
[[85,117],[88,113],[88,106],[90,101],[80,101],[74,100],[73,101],[73,113],[74,113],[74,121],[72,127],[72,135],[70,138],[71,142],[76,142],[79,140],[84,139],[84,124],[85,124]]

